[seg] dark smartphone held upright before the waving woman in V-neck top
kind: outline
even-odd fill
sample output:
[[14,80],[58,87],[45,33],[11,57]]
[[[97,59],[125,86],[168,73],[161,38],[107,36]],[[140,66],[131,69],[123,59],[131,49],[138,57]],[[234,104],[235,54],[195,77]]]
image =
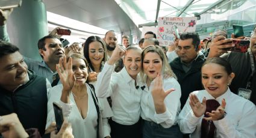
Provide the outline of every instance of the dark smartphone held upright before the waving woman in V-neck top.
[[64,116],[62,112],[61,106],[59,106],[57,103],[52,103],[54,105],[54,115],[55,115],[55,121],[57,126],[57,131],[60,131],[61,125],[64,122]]

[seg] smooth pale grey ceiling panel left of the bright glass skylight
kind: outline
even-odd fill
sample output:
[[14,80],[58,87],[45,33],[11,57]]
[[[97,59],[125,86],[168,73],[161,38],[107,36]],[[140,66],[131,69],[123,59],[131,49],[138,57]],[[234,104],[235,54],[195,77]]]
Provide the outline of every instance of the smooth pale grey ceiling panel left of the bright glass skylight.
[[[139,28],[113,0],[43,0],[46,10],[70,19],[114,30],[119,34],[139,35]],[[82,28],[81,28],[82,29]]]

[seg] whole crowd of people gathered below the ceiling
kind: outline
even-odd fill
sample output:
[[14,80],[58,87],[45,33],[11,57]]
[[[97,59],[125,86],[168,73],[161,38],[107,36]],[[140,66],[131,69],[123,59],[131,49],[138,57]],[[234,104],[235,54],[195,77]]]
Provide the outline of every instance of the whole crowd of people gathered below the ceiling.
[[246,53],[225,30],[182,32],[168,49],[154,32],[118,45],[111,30],[64,48],[55,28],[39,62],[10,42],[3,12],[0,137],[256,137],[256,26]]

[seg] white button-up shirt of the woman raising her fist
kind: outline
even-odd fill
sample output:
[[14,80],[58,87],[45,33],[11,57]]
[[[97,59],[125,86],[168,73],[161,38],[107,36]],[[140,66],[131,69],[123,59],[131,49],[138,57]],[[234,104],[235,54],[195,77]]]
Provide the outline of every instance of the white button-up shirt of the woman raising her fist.
[[[97,77],[96,96],[111,97],[114,122],[122,125],[136,124],[140,119],[142,91],[136,89],[135,80],[127,73],[125,67],[119,73],[113,71],[114,65],[106,62]],[[136,82],[139,80],[137,76]]]

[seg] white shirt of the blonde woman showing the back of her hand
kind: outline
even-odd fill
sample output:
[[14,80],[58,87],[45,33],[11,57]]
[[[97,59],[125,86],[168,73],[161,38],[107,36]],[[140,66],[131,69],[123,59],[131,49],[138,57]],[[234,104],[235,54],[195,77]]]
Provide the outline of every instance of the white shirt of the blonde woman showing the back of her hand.
[[142,93],[142,118],[146,121],[153,121],[160,124],[164,128],[172,127],[172,125],[177,124],[176,118],[178,118],[178,113],[181,110],[181,86],[174,77],[169,77],[163,79],[163,89],[167,91],[168,89],[174,88],[175,91],[170,92],[169,95],[164,99],[164,104],[166,105],[166,112],[157,114],[155,112],[154,100],[151,94],[152,88],[154,86],[154,80],[151,85],[148,86],[144,84],[145,89]]

